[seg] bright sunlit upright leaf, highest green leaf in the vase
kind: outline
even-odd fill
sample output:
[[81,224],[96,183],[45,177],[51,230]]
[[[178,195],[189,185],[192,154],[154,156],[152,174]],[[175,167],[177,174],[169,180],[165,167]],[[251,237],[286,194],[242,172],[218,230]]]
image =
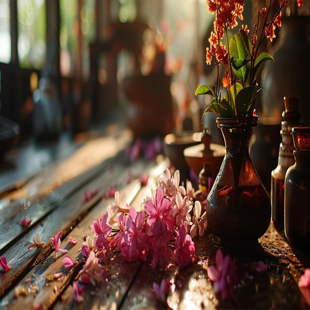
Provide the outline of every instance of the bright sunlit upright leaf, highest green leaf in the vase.
[[[229,55],[230,55],[230,58],[235,61],[238,59],[241,59],[241,61],[244,61],[244,59],[246,59],[247,57],[246,47],[239,33],[235,34],[230,39]],[[241,79],[242,81],[245,80],[246,68],[244,66],[240,67],[240,69],[235,69],[233,67],[233,70],[235,74],[239,77],[239,79]]]

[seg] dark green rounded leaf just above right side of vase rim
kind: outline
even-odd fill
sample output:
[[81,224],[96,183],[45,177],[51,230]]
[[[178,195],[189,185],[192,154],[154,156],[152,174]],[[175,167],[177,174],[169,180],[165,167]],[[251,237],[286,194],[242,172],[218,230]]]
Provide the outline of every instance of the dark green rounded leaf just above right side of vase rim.
[[242,90],[240,90],[236,95],[236,101],[235,101],[237,115],[241,117],[250,116],[248,115],[248,111],[251,106],[254,106],[256,97],[257,97],[257,87],[255,86],[245,87]]

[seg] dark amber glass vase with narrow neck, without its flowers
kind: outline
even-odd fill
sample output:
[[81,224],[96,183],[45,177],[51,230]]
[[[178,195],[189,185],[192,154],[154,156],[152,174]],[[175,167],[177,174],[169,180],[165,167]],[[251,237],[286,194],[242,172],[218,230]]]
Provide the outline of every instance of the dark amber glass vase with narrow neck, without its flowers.
[[258,244],[271,218],[270,198],[249,155],[249,141],[258,117],[218,117],[226,155],[207,197],[209,231],[232,247]]

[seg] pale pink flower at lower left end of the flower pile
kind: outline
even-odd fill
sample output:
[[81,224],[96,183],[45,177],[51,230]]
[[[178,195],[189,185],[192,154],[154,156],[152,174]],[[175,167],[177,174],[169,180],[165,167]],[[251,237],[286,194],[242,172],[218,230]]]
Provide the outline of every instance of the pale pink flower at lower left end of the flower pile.
[[93,251],[91,251],[83,269],[79,272],[79,277],[83,283],[91,283],[94,286],[96,282],[103,282],[102,266]]

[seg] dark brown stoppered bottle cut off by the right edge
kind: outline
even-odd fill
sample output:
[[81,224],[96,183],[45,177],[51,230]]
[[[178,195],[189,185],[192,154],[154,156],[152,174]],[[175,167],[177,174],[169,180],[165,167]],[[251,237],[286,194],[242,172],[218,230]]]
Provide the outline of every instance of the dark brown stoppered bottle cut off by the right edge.
[[285,235],[310,249],[310,127],[292,129],[295,164],[285,176]]

